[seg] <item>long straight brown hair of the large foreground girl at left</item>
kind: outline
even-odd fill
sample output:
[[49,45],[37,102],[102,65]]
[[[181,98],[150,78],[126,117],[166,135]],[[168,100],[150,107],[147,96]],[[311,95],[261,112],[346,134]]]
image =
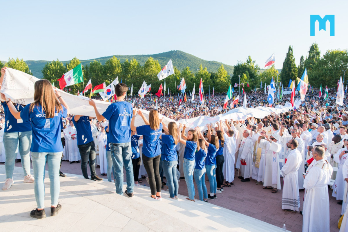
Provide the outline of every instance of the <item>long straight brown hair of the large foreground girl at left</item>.
[[63,111],[63,107],[56,98],[52,85],[48,80],[43,79],[35,82],[34,90],[34,103],[30,104],[30,111],[33,111],[35,106],[41,105],[42,111],[46,113],[46,118],[53,118],[56,110],[57,113]]

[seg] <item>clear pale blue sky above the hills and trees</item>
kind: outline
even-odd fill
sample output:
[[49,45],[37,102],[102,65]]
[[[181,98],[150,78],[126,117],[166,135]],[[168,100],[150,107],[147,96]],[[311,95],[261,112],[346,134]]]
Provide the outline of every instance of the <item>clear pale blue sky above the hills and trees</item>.
[[[1,60],[182,50],[228,65],[250,55],[260,67],[275,53],[282,68],[289,45],[296,65],[313,42],[322,54],[348,48],[348,1],[6,1],[1,8]],[[329,22],[310,36],[311,14],[335,15],[335,36]]]

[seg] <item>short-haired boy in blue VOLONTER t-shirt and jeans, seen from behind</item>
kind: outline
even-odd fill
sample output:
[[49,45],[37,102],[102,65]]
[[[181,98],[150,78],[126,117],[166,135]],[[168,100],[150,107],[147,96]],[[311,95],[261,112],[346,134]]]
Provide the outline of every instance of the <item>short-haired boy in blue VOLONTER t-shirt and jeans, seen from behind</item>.
[[125,166],[127,180],[125,193],[129,198],[132,198],[134,197],[134,174],[132,147],[130,144],[130,121],[133,117],[133,106],[124,100],[127,90],[126,84],[118,83],[115,86],[116,102],[109,105],[103,114],[99,113],[92,99],[89,99],[89,105],[94,107],[99,121],[103,121],[104,118],[109,120],[109,142],[114,173],[116,175],[116,193],[123,193],[123,166]]

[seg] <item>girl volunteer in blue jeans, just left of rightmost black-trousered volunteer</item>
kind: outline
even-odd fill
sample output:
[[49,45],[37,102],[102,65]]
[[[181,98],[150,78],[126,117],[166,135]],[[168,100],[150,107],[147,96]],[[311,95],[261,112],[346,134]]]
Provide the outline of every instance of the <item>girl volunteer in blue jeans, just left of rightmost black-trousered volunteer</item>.
[[205,169],[209,179],[210,193],[208,199],[214,200],[216,198],[216,153],[219,150],[219,139],[216,135],[211,134],[211,125],[207,124],[208,133],[207,138],[210,142],[204,140],[205,145],[208,147],[207,158],[205,159]]

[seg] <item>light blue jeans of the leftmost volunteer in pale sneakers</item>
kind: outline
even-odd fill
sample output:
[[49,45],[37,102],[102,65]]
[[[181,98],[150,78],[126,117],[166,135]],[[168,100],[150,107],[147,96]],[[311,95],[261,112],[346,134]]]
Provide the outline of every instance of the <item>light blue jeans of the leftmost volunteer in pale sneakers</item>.
[[30,146],[31,131],[3,133],[3,146],[5,147],[6,178],[12,178],[15,168],[16,150],[19,148],[24,176],[30,174]]

